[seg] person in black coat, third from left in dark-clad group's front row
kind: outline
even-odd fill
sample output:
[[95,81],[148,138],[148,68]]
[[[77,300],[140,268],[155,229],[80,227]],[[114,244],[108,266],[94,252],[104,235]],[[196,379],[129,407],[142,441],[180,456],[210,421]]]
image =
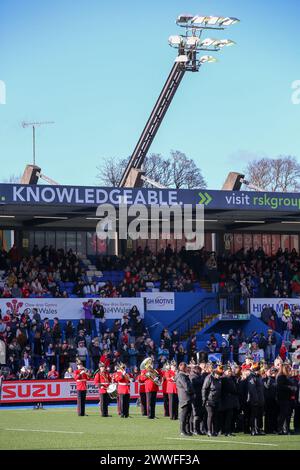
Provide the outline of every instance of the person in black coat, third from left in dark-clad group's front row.
[[219,432],[222,375],[223,367],[219,365],[205,378],[202,387],[202,402],[207,411],[207,435],[209,437],[217,436]]

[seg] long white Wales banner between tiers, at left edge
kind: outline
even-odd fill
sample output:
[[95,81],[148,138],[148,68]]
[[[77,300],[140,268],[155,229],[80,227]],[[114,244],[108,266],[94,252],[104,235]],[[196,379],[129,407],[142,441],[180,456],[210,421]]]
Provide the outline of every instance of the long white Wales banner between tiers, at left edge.
[[[26,308],[32,313],[32,309],[36,308],[41,318],[58,317],[60,320],[76,320],[84,318],[84,304],[88,298],[29,298],[29,299],[0,299],[0,309],[4,314],[7,309],[15,310],[22,313]],[[97,300],[96,298],[92,299]],[[120,297],[120,298],[99,298],[104,307],[106,319],[122,318],[125,313],[136,305],[141,317],[144,317],[144,299],[140,297]]]

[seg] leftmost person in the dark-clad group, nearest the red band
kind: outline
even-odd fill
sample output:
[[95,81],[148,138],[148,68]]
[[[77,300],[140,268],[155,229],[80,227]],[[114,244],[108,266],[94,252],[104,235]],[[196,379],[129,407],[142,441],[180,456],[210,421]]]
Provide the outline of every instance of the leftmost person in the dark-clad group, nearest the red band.
[[180,409],[180,433],[181,436],[192,436],[190,432],[190,419],[192,414],[193,387],[188,375],[188,367],[185,362],[178,366],[175,377]]

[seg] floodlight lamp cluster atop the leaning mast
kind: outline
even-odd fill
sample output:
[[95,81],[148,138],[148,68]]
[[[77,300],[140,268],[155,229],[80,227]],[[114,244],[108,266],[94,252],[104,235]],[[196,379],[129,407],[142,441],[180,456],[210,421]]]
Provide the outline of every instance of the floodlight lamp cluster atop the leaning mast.
[[198,71],[199,67],[208,62],[217,62],[211,55],[205,55],[198,59],[199,51],[216,52],[226,46],[233,46],[234,41],[230,39],[202,38],[202,33],[207,29],[224,30],[239,22],[237,18],[224,16],[192,16],[179,15],[176,24],[184,27],[184,35],[173,35],[169,37],[169,45],[178,49],[175,62],[180,63],[185,70]]

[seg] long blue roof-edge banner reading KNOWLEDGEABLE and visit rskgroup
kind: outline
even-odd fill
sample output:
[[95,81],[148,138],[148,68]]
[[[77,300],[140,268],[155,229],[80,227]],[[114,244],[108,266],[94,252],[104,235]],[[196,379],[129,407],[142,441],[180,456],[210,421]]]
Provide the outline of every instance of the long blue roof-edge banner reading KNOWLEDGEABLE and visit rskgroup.
[[201,189],[100,188],[0,184],[0,205],[204,204],[206,209],[299,212],[300,194]]

